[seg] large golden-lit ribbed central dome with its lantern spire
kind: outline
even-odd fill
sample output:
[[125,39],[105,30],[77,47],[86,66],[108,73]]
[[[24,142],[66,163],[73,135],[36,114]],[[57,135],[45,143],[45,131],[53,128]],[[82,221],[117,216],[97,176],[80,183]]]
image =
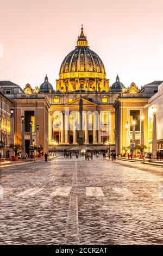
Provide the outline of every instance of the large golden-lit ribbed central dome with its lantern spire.
[[82,27],[76,48],[68,53],[61,64],[57,90],[72,92],[82,89],[107,92],[108,83],[104,64],[97,53],[87,46]]

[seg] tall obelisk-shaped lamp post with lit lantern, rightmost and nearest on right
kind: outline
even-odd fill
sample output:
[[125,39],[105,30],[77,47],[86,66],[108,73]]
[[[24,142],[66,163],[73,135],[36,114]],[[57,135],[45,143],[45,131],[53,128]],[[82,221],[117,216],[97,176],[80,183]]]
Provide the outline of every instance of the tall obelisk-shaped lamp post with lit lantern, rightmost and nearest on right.
[[156,108],[152,108],[153,111],[153,127],[152,127],[152,158],[156,159],[157,154],[157,133],[156,133]]

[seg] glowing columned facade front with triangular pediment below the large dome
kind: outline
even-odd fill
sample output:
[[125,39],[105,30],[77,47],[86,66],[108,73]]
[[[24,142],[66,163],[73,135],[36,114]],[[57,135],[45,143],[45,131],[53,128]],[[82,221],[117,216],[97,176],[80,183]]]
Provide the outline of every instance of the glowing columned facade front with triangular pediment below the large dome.
[[114,117],[112,109],[108,111],[84,97],[81,99],[83,100],[83,135],[80,135],[79,95],[76,100],[64,106],[51,106],[49,111],[49,142],[54,140],[60,145],[76,145],[80,138],[83,139],[84,144],[103,144],[111,138],[111,118]]

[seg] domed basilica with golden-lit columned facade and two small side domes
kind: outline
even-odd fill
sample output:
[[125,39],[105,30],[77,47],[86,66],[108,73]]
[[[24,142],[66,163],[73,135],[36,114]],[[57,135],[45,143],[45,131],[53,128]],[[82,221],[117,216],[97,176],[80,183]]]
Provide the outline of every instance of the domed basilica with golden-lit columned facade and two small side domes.
[[[48,111],[48,141],[59,147],[77,145],[80,133],[79,100],[83,100],[83,142],[85,145],[115,147],[115,109],[113,103],[124,90],[120,78],[109,90],[101,58],[88,46],[83,32],[77,45],[67,54],[60,66],[56,91],[48,82],[41,84],[39,93],[46,95]],[[58,147],[58,148],[59,148]]]

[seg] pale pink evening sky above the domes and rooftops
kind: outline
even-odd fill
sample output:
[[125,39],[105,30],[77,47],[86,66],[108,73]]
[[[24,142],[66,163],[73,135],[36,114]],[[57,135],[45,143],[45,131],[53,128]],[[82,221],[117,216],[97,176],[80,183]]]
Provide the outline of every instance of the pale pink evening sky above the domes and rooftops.
[[0,80],[34,88],[47,73],[55,88],[82,23],[110,85],[117,72],[126,86],[163,80],[162,0],[0,0],[0,7]]

